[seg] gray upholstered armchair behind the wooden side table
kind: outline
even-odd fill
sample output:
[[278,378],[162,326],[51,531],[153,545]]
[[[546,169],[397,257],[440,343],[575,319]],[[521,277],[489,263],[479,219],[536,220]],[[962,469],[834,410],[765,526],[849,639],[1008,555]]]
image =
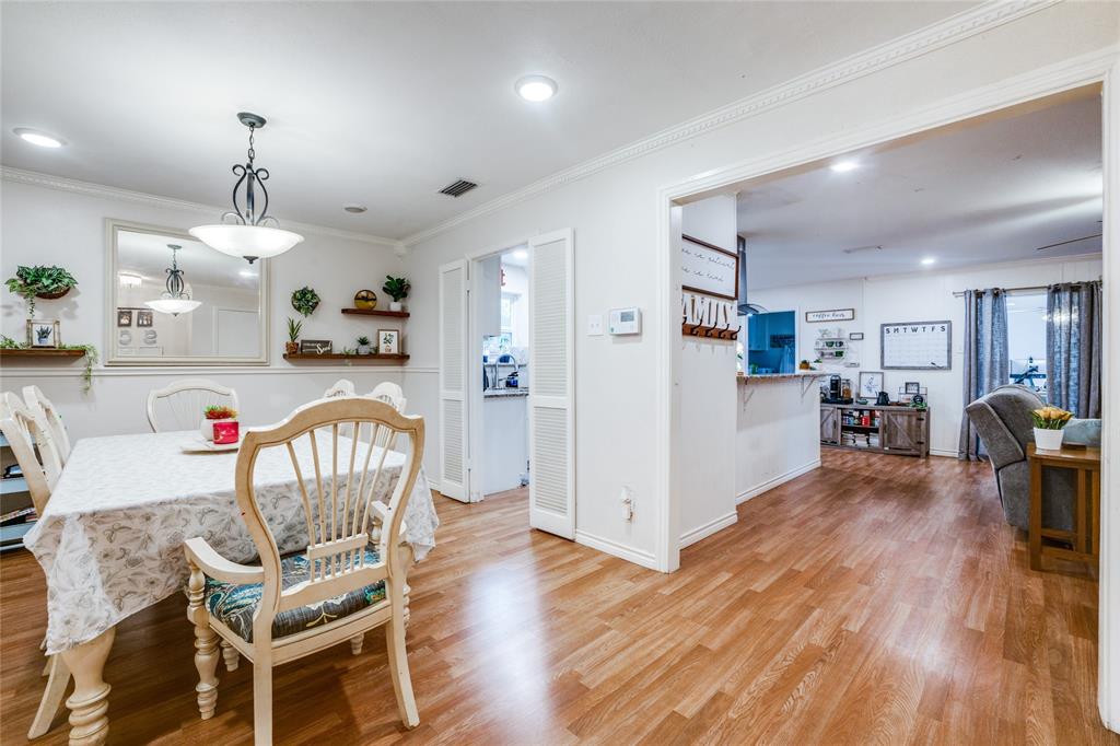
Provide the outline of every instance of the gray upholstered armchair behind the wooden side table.
[[[1027,444],[1034,442],[1030,411],[1045,407],[1026,386],[1004,385],[964,408],[991,459],[1007,522],[1026,530],[1030,512],[1030,470]],[[1100,420],[1070,420],[1065,442],[1101,445]],[[1074,475],[1070,469],[1043,469],[1043,525],[1073,529]]]

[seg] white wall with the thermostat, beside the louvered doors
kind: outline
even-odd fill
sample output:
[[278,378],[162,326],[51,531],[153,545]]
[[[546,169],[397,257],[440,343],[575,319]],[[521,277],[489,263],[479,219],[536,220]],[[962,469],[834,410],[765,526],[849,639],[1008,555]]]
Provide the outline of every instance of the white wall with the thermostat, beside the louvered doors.
[[[413,358],[405,373],[410,405],[424,407],[438,429],[436,375],[438,267],[468,252],[501,250],[563,227],[575,231],[576,251],[576,493],[577,539],[646,565],[654,563],[660,486],[656,438],[659,332],[657,192],[712,169],[777,156],[856,128],[913,113],[949,97],[1111,46],[1120,17],[1117,3],[1058,3],[890,67],[783,100],[758,113],[702,134],[681,138],[633,160],[589,176],[556,179],[552,188],[496,212],[456,223],[420,240],[407,260],[413,281]],[[899,57],[902,58],[902,56]],[[559,99],[557,100],[559,103]],[[681,112],[682,119],[692,112]],[[542,110],[542,115],[548,112]],[[638,306],[641,337],[587,336],[589,314]],[[428,370],[423,370],[428,366]],[[423,393],[421,393],[423,392]],[[734,405],[734,399],[729,402]],[[432,438],[435,440],[435,438]],[[711,461],[732,470],[731,461]],[[633,489],[633,521],[618,504],[622,486]]]

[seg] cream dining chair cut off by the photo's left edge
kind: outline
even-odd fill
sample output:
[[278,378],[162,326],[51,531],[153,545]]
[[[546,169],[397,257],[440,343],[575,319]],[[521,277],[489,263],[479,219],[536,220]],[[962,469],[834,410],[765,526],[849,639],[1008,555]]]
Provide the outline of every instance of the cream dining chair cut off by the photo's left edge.
[[[35,512],[43,515],[50,493],[62,474],[62,460],[45,420],[32,412],[18,395],[10,391],[0,394],[0,432],[11,448],[31,494]],[[39,700],[39,709],[31,721],[27,737],[38,738],[50,729],[58,714],[69,683],[69,669],[62,655],[48,655],[44,669],[47,687]]]

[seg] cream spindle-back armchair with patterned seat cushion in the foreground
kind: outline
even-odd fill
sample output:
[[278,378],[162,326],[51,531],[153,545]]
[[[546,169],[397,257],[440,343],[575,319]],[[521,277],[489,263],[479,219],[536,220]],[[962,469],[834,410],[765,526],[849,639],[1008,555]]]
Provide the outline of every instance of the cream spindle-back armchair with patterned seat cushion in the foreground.
[[[372,427],[374,439],[386,433],[389,447],[342,437],[344,425]],[[402,437],[411,448],[390,485],[385,458]],[[401,542],[402,517],[420,470],[420,458],[411,454],[423,454],[423,440],[422,418],[365,398],[311,402],[276,426],[245,435],[235,488],[261,563],[231,562],[203,538],[184,544],[203,719],[216,707],[220,642],[232,651],[223,651],[227,668],[239,654],[252,662],[254,743],[271,744],[273,666],[346,641],[356,655],[362,636],[383,625],[401,720],[409,728],[420,722],[404,646],[411,554]],[[281,449],[280,458],[287,453],[299,485],[308,544],[296,554],[280,554],[262,510],[264,496],[259,501],[255,492],[258,458],[269,448]],[[381,531],[373,541],[375,526]]]

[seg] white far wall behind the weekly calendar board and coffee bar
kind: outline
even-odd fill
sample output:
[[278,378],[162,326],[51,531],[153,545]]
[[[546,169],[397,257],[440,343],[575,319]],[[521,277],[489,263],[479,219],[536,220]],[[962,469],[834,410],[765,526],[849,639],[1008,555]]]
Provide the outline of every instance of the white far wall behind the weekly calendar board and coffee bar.
[[[765,271],[764,269],[760,271]],[[952,367],[948,371],[884,371],[884,386],[895,395],[906,381],[917,381],[930,390],[930,453],[956,456],[961,417],[964,411],[964,301],[954,292],[969,288],[1019,288],[1054,282],[1095,280],[1101,277],[1100,254],[1062,260],[1038,260],[988,264],[965,270],[924,271],[912,274],[819,282],[790,288],[757,290],[754,302],[769,310],[797,310],[800,357],[813,360],[813,341],[821,327],[841,328],[844,335],[862,332],[864,342],[851,343],[859,353],[859,367],[821,365],[859,384],[859,372],[881,371],[879,326],[899,321],[940,321],[952,328]],[[805,311],[855,308],[853,321],[809,324]],[[799,358],[800,358],[799,357]]]

